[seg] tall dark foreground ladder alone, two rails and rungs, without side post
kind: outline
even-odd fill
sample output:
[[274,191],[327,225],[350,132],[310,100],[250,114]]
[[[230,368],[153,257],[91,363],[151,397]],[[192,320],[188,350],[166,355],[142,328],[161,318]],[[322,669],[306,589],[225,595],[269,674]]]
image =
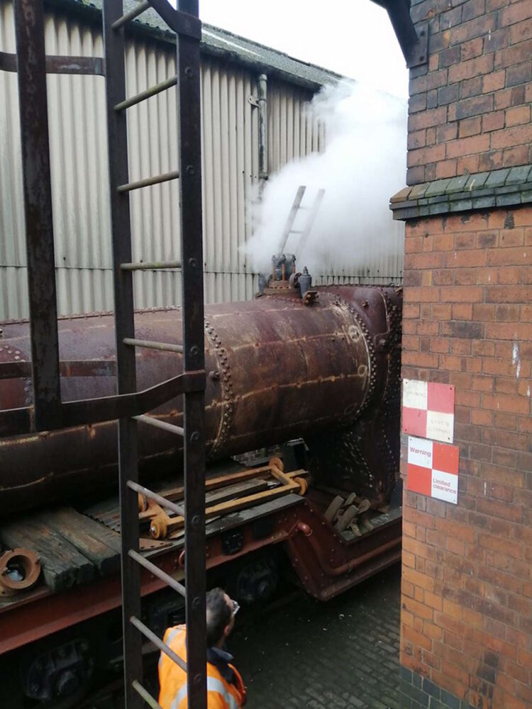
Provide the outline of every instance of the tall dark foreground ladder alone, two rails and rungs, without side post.
[[[123,0],[104,0],[107,132],[113,234],[113,272],[116,316],[118,393],[136,389],[135,349],[182,350],[183,371],[204,370],[203,253],[201,238],[201,124],[198,0],[180,0],[174,9],[167,0],[142,0],[124,13]],[[126,98],[125,28],[140,13],[153,8],[177,35],[177,76]],[[177,84],[179,169],[130,182],[128,177],[127,109]],[[181,201],[181,264],[135,263],[131,256],[129,194],[135,189],[179,178]],[[182,347],[145,342],[135,337],[133,273],[145,269],[182,269]],[[121,418],[118,423],[118,466],[122,533],[123,657],[126,708],[143,700],[157,706],[142,684],[143,637],[153,642],[187,672],[189,706],[206,709],[205,618],[205,447],[204,378],[201,388],[184,392],[184,427],[172,431],[184,437],[184,508],[170,501],[164,506],[184,516],[185,586],[142,557],[138,551],[138,493],[150,491],[138,484],[137,424],[158,426],[150,416]],[[168,425],[165,425],[168,429]],[[165,581],[185,599],[187,661],[178,657],[141,620],[140,566]]]

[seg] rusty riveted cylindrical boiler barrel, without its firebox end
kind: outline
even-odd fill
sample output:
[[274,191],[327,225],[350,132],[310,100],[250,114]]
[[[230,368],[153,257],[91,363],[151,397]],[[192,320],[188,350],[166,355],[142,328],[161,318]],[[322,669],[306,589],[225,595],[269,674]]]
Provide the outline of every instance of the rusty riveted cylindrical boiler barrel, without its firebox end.
[[[255,450],[355,420],[375,390],[379,366],[386,376],[385,359],[375,355],[373,343],[374,335],[387,329],[384,290],[319,289],[311,307],[282,297],[208,306],[208,457]],[[7,323],[3,329],[0,362],[28,361],[28,323]],[[181,333],[179,308],[135,314],[140,340],[179,344]],[[95,361],[92,372],[72,368],[62,376],[62,400],[115,393],[113,317],[62,318],[59,335],[62,361]],[[138,389],[182,370],[182,355],[175,352],[138,348],[136,362]],[[0,408],[31,403],[31,379],[0,380]],[[182,397],[151,415],[182,425]],[[138,433],[144,480],[180,467],[179,436],[143,423]],[[0,439],[0,515],[73,496],[87,498],[116,485],[116,440],[116,422]]]

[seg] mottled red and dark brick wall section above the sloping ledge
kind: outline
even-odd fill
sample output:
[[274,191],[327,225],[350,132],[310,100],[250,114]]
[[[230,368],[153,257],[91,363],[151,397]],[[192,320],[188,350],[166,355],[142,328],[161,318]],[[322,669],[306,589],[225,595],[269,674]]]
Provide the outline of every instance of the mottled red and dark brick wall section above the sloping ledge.
[[407,184],[532,162],[531,0],[412,1],[429,21],[411,71]]

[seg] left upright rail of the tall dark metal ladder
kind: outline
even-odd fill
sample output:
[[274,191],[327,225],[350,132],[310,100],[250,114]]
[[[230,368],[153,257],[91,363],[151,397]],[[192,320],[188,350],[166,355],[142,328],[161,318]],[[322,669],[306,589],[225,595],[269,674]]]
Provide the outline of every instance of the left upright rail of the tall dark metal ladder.
[[[131,222],[127,191],[118,186],[129,182],[128,133],[126,113],[114,106],[126,96],[125,40],[123,28],[113,23],[123,15],[123,0],[104,0],[104,48],[106,65],[107,139],[109,144],[109,189],[111,199],[111,233],[113,251],[116,370],[118,393],[136,389],[135,348],[124,339],[135,337],[133,317],[133,274],[120,264],[131,262]],[[132,418],[118,421],[118,471],[120,477],[121,577],[124,690],[127,709],[140,709],[143,699],[133,682],[142,682],[142,636],[130,618],[141,617],[140,566],[128,554],[138,552],[138,497],[127,482],[138,482],[137,422]]]

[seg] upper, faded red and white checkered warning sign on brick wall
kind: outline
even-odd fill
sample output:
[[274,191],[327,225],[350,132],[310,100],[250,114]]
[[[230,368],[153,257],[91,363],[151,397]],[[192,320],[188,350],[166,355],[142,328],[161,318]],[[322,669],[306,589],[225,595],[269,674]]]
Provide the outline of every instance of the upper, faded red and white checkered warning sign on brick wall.
[[403,379],[403,432],[453,442],[455,388],[452,384]]

